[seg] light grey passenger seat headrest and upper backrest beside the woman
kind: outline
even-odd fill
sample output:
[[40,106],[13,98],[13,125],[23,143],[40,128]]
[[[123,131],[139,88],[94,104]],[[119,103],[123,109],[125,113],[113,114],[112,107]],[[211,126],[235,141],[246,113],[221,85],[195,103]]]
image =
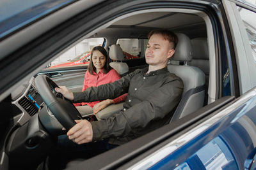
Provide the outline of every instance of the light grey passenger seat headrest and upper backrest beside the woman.
[[125,74],[129,72],[128,65],[125,62],[122,62],[125,56],[119,45],[110,46],[109,57],[110,59],[115,60],[114,62],[110,62],[109,65],[113,67],[120,76],[125,76]]

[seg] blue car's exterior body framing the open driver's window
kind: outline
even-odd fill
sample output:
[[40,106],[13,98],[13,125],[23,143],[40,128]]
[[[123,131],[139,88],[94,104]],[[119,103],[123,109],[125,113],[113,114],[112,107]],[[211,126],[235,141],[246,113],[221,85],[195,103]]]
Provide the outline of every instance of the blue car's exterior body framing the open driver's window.
[[[216,85],[218,90],[214,93],[216,98],[212,103],[205,105],[187,117],[180,118],[179,122],[165,125],[141,138],[134,139],[134,141],[124,146],[102,153],[92,159],[84,160],[67,169],[83,169],[84,167],[88,169],[175,170],[256,168],[256,72],[254,72],[256,67],[253,67],[255,65],[248,57],[248,53],[252,55],[251,51],[248,52],[247,47],[249,45],[246,47],[246,45],[241,46],[239,44],[241,42],[239,38],[243,38],[246,35],[245,31],[236,32],[239,30],[238,28],[241,28],[241,25],[239,25],[241,18],[238,15],[232,18],[234,13],[237,14],[236,8],[244,8],[256,13],[255,4],[233,0],[88,1],[87,6],[83,1],[74,0],[36,2],[35,4],[24,6],[22,11],[13,10],[5,15],[1,14],[0,66],[2,67],[0,69],[0,108],[1,114],[3,113],[1,116],[3,122],[1,124],[6,127],[1,136],[1,170],[9,168],[9,155],[5,148],[7,141],[10,141],[8,146],[12,145],[14,137],[10,138],[10,134],[15,133],[8,125],[14,124],[13,122],[15,121],[19,122],[17,120],[19,119],[18,116],[23,111],[17,111],[19,113],[15,113],[17,115],[13,117],[8,114],[8,116],[4,116],[4,113],[9,113],[9,110],[7,111],[6,109],[8,108],[6,107],[8,104],[5,105],[6,101],[9,104],[15,103],[8,100],[10,94],[22,84],[22,80],[28,80],[28,76],[37,74],[38,71],[44,69],[44,66],[40,66],[40,64],[47,65],[45,64],[47,61],[63,49],[68,48],[72,43],[79,41],[81,37],[88,34],[91,37],[97,36],[97,34],[91,34],[94,29],[98,29],[103,24],[108,24],[116,17],[127,15],[127,13],[132,13],[138,9],[184,8],[184,10],[199,9],[198,11],[200,11],[203,7],[206,9],[204,12],[207,13],[212,24],[212,37],[214,37],[214,50],[216,50],[214,54],[221,56],[216,60],[216,63],[221,63],[220,70],[214,70],[218,83],[213,82],[212,85]],[[10,8],[15,3],[18,3],[18,1],[5,6],[0,3],[0,11],[3,12],[4,8]],[[112,8],[109,9],[110,7],[108,8],[107,4]],[[77,6],[79,5],[84,5],[84,8],[78,8]],[[70,10],[68,6],[76,6],[74,9],[77,9],[77,11],[74,11],[73,8]],[[65,10],[65,8],[68,9],[67,12],[72,11],[73,13],[70,16],[64,16],[65,12],[61,10]],[[102,17],[102,13],[99,16],[93,13],[98,8],[102,8],[106,16]],[[62,12],[61,15],[64,17],[61,18],[59,16],[60,20],[52,21],[51,17],[54,17],[58,12]],[[92,16],[90,15],[91,13]],[[87,16],[89,16],[88,20]],[[95,18],[96,24],[93,22],[93,18]],[[83,21],[79,22],[79,19]],[[38,31],[31,32],[31,37],[26,32],[22,33],[22,31],[29,31],[26,29],[36,24],[44,25],[44,22],[49,24],[49,27],[43,27],[42,30],[38,29]],[[79,29],[80,25],[84,27],[83,30]],[[88,26],[85,27],[84,25]],[[68,34],[73,31],[75,26],[79,27],[75,29],[77,32]],[[237,34],[241,35],[238,37]],[[252,36],[255,36],[255,34],[252,34]],[[24,41],[23,39],[13,40],[14,38],[24,38]],[[17,43],[13,44],[15,41]],[[108,41],[106,42],[108,43]],[[250,41],[251,44],[255,42],[256,39]],[[10,48],[6,48],[6,46],[10,46]],[[34,49],[35,51],[33,51]],[[241,55],[241,53],[244,55]],[[35,58],[30,58],[34,55]],[[246,60],[247,64],[239,65],[243,62],[241,59]],[[255,59],[254,62],[256,63]],[[218,64],[216,65],[218,66]],[[85,70],[84,68],[79,69],[80,71]],[[55,75],[52,70],[43,71],[42,73],[49,76]],[[62,75],[64,72],[60,73]],[[36,107],[40,108],[38,104]],[[24,114],[23,112],[22,114]],[[10,111],[10,113],[13,112]],[[9,121],[9,119],[12,121]],[[28,122],[30,117],[27,119],[26,121]],[[22,127],[26,122],[19,122],[19,124]],[[22,166],[26,167],[26,165],[27,162]]]

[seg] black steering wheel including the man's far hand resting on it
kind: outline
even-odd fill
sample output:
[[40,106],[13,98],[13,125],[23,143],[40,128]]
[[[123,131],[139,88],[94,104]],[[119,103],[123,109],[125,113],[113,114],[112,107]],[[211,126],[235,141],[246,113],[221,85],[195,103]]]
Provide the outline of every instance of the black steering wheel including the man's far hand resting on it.
[[[81,119],[82,116],[79,111],[76,109],[74,104],[70,101],[74,99],[73,93],[67,89],[67,87],[58,87],[54,81],[51,80],[48,76],[40,74],[35,78],[35,85],[38,93],[42,97],[45,103],[45,108],[47,114],[45,117],[40,114],[40,119],[42,122],[45,122],[44,126],[52,134],[62,134],[62,131],[70,130],[74,125],[76,125],[75,120]],[[60,92],[60,94],[56,94]],[[62,97],[61,97],[62,96]],[[64,97],[63,97],[64,96]],[[55,127],[54,124],[51,124],[51,121],[47,118],[55,117],[58,122],[61,124],[60,127]],[[51,120],[51,119],[50,119]],[[54,118],[52,118],[54,120]],[[64,128],[63,128],[64,127]],[[61,131],[61,132],[60,132]]]

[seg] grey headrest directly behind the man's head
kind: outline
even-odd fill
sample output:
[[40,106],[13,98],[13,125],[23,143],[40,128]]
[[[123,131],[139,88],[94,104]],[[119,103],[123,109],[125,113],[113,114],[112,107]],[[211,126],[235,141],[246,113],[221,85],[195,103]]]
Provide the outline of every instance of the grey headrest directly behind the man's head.
[[191,41],[185,34],[177,33],[179,42],[175,48],[175,53],[170,60],[190,61],[192,60]]

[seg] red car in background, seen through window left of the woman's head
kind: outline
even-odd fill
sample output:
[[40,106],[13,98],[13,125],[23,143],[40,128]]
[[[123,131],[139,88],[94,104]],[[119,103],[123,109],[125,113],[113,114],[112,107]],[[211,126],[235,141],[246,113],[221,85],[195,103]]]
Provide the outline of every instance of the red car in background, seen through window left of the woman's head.
[[51,66],[49,68],[54,68],[54,67],[66,67],[66,66],[75,66],[75,65],[81,65],[81,64],[89,64],[90,62],[90,55],[91,52],[85,52],[81,55],[78,55],[72,60],[69,60],[70,62],[64,62],[61,64],[56,64],[54,66]]

